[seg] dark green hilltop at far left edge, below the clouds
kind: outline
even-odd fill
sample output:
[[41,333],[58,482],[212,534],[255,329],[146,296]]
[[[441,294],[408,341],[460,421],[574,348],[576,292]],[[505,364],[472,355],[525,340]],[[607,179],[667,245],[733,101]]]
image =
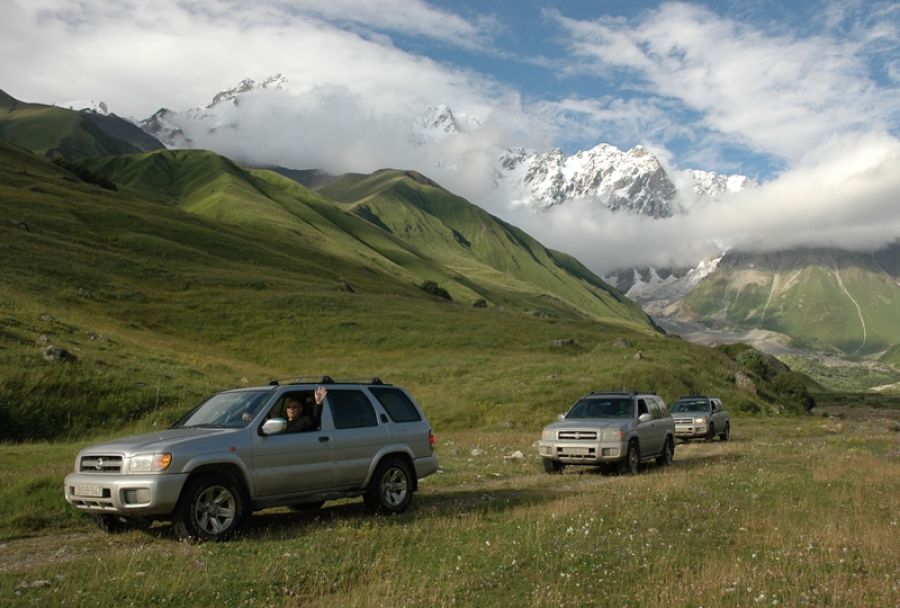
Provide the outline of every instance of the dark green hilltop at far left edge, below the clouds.
[[18,101],[0,91],[0,139],[69,159],[130,154],[138,149],[73,110]]

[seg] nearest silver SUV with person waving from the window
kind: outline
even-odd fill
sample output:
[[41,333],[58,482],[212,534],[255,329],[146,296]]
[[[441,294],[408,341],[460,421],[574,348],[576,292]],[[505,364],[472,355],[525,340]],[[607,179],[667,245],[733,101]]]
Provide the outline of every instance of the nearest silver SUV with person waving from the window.
[[[327,396],[316,407],[319,385]],[[288,401],[313,420],[307,429],[289,428]],[[223,540],[268,507],[362,496],[374,511],[400,513],[437,468],[409,393],[326,376],[218,393],[168,430],[85,448],[65,496],[109,532],[160,519],[182,538]]]

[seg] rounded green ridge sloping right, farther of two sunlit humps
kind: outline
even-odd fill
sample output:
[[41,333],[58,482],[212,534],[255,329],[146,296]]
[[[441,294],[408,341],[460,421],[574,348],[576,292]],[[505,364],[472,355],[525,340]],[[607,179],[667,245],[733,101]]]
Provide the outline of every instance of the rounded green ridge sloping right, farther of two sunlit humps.
[[[348,175],[320,190],[343,201],[404,240],[427,249],[491,303],[504,303],[501,286],[534,293],[549,308],[566,307],[593,318],[649,322],[638,306],[580,263],[545,249],[533,238],[414,172],[383,170]],[[457,281],[459,282],[459,281]],[[454,285],[448,288],[453,292]]]

